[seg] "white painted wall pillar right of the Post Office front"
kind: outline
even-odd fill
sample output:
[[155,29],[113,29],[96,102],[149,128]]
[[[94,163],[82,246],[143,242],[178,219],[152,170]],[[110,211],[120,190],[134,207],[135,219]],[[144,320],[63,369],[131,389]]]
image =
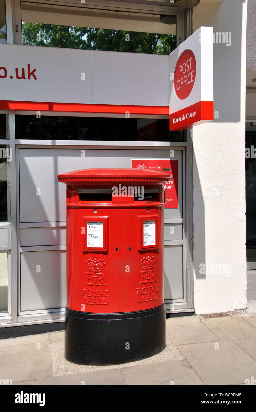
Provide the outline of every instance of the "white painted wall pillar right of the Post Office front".
[[[247,307],[245,220],[245,52],[247,0],[193,9],[193,31],[231,32],[214,43],[214,111],[193,128],[193,264],[196,314]],[[200,264],[209,265],[200,274]],[[227,264],[217,274],[217,264]],[[210,266],[211,265],[211,266]],[[215,273],[211,273],[211,270]],[[232,272],[232,273],[231,273]],[[231,276],[230,276],[231,275]]]

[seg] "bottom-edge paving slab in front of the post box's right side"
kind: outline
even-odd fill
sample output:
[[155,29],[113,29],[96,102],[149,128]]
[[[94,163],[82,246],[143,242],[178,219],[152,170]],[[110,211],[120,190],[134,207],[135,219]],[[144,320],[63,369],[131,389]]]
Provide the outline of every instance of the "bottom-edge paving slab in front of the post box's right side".
[[121,372],[127,385],[204,385],[185,360],[131,366]]

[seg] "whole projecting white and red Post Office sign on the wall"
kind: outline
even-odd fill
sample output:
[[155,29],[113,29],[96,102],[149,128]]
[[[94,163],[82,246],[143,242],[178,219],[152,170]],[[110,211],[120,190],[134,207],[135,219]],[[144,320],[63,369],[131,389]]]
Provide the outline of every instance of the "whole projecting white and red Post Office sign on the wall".
[[214,118],[213,27],[200,27],[170,54],[170,130]]

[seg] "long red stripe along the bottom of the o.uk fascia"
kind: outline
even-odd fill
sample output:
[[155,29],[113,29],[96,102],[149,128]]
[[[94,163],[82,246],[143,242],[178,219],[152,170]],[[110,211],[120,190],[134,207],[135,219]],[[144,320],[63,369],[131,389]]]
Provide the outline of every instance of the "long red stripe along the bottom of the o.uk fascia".
[[120,113],[134,115],[169,115],[168,106],[48,103],[0,100],[0,110],[34,110],[44,112]]

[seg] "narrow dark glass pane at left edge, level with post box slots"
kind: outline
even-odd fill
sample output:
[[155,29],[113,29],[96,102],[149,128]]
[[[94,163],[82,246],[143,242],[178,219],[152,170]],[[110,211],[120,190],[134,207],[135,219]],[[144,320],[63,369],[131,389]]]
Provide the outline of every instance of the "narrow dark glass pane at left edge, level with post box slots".
[[0,146],[0,221],[9,221],[9,162],[12,153],[9,146]]

